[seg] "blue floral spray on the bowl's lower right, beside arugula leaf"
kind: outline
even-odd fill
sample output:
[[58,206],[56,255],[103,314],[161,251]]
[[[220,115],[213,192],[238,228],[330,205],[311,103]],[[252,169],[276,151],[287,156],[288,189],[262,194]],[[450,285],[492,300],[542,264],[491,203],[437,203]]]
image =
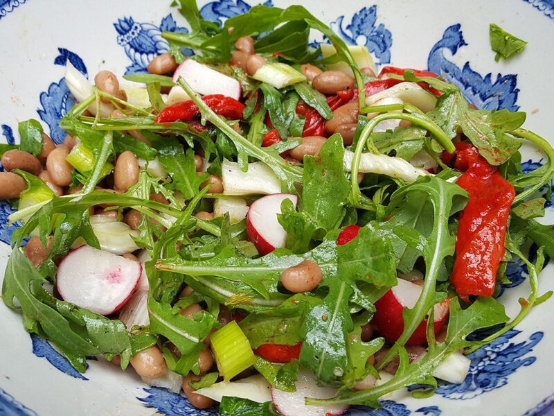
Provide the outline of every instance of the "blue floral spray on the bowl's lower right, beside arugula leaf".
[[527,367],[535,363],[535,356],[526,355],[533,351],[533,347],[544,336],[544,333],[537,331],[532,333],[528,340],[521,343],[512,342],[512,338],[519,333],[521,331],[512,329],[471,354],[470,371],[463,383],[441,384],[436,394],[447,399],[466,400],[508,384],[510,374],[521,366]]

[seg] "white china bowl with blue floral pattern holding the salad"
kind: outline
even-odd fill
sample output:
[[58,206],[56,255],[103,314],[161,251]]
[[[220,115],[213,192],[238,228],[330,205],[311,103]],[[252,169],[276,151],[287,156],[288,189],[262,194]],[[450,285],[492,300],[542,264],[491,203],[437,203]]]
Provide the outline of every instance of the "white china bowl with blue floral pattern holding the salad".
[[[246,12],[256,0],[202,2],[206,19],[224,21]],[[305,0],[303,6],[331,24],[348,44],[363,44],[378,65],[449,73],[477,107],[527,112],[526,127],[553,136],[553,0]],[[322,6],[325,3],[325,6]],[[265,4],[286,7],[288,0]],[[527,40],[521,55],[494,62],[488,27],[499,24]],[[73,105],[64,81],[66,62],[85,76],[100,69],[117,74],[145,71],[166,51],[163,31],[187,31],[170,0],[0,0],[0,135],[18,141],[17,123],[39,119],[52,139],[64,132],[60,117]],[[314,41],[322,41],[314,33]],[[524,150],[524,168],[544,162]],[[10,254],[12,209],[0,206],[0,268]],[[554,222],[554,210],[546,220]],[[517,313],[517,299],[529,291],[521,262],[510,263],[501,300]],[[554,289],[554,268],[540,277],[540,293]],[[531,311],[517,329],[470,356],[461,385],[440,385],[429,399],[393,397],[373,413],[352,408],[351,415],[554,415],[554,300]],[[184,397],[149,388],[129,370],[106,361],[89,361],[79,374],[48,343],[29,336],[21,315],[0,304],[0,415],[215,415],[195,410]]]

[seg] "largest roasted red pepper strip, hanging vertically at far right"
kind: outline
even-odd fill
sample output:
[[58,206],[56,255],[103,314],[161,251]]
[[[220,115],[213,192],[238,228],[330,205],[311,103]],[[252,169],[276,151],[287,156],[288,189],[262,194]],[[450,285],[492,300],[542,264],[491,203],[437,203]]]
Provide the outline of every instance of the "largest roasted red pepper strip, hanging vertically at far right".
[[450,281],[467,302],[470,295],[494,293],[515,190],[471,144],[456,144],[455,153],[454,167],[465,170],[456,184],[467,191],[470,199],[460,213]]

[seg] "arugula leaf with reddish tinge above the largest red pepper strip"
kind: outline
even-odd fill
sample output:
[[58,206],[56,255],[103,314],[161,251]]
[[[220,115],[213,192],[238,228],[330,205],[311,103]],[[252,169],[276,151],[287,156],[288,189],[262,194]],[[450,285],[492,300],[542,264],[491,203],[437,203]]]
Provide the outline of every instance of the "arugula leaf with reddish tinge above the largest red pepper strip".
[[451,138],[460,129],[487,162],[494,166],[506,162],[521,146],[518,139],[506,132],[519,127],[525,121],[525,113],[472,110],[459,90],[440,96],[434,110],[427,115]]

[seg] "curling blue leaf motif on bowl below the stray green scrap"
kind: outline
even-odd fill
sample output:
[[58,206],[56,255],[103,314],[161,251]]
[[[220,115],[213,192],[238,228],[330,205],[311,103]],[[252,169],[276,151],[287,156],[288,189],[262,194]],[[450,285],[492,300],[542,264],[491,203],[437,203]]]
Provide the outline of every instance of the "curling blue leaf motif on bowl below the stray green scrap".
[[497,75],[492,82],[492,73],[484,77],[470,67],[470,62],[465,62],[462,69],[445,57],[445,50],[455,55],[463,46],[467,46],[461,31],[461,24],[449,26],[429,52],[427,66],[429,71],[445,74],[447,80],[460,88],[465,98],[478,108],[486,110],[501,110],[506,108],[517,111],[516,105],[519,89],[517,88],[517,75]]

